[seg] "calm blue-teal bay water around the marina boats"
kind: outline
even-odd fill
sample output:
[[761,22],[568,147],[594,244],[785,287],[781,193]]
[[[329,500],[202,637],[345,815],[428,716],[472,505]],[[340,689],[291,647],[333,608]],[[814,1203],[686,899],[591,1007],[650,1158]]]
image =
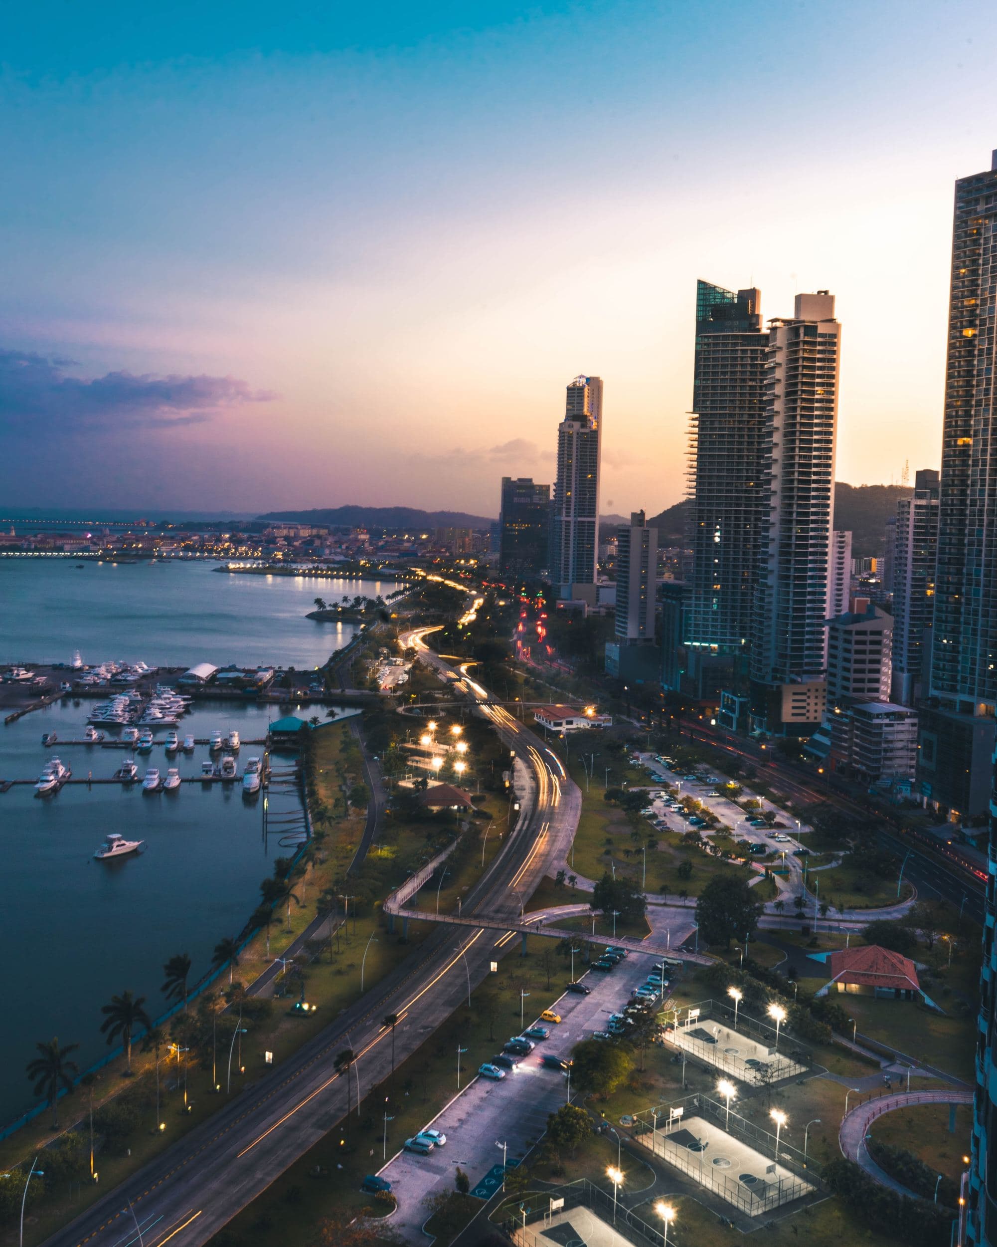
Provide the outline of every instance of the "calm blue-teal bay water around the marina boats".
[[[353,630],[305,620],[312,599],[345,592],[390,592],[394,584],[299,582],[224,576],[211,565],[110,566],[75,570],[71,560],[0,559],[2,661],[143,658],[198,661],[324,662]],[[336,592],[338,589],[338,592]],[[0,726],[0,778],[36,777],[55,753],[74,778],[110,777],[128,756],[122,749],[57,743],[81,739],[92,703],[59,702]],[[177,728],[208,737],[238,728],[243,742],[265,736],[283,707],[241,702],[198,703]],[[295,707],[304,717],[325,707]],[[161,737],[165,732],[158,733]],[[239,772],[262,747],[243,743]],[[137,757],[140,774],[156,766],[198,774],[207,747],[167,758],[163,747]],[[280,798],[287,801],[287,798]],[[146,842],[138,857],[93,860],[108,832]],[[211,964],[214,945],[237,934],[258,902],[272,859],[287,849],[262,835],[260,803],[244,801],[238,784],[182,784],[176,793],[143,796],[138,787],[67,784],[36,798],[16,784],[0,793],[0,1127],[35,1102],[26,1062],[35,1044],[57,1035],[77,1042],[81,1067],[107,1052],[100,1008],[131,989],[155,1016],[166,1008],[162,965],[173,954],[193,959],[192,981]]]

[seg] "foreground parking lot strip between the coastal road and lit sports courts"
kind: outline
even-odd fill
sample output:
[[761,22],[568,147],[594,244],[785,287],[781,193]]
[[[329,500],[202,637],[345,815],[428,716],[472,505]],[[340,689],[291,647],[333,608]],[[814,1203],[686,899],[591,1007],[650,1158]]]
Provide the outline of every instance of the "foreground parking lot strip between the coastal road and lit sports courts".
[[[506,1071],[502,1081],[475,1077],[432,1121],[425,1124],[446,1135],[444,1147],[435,1148],[429,1156],[403,1150],[379,1171],[391,1182],[391,1191],[398,1198],[398,1211],[390,1218],[396,1233],[408,1242],[426,1241],[421,1230],[427,1216],[424,1201],[439,1191],[454,1190],[457,1165],[470,1176],[474,1192],[480,1197],[492,1193],[495,1186],[501,1183],[501,1170],[496,1171],[495,1166],[502,1163],[502,1148],[496,1143],[507,1145],[511,1166],[543,1134],[547,1115],[567,1101],[567,1075],[545,1069],[542,1056],[546,1052],[568,1056],[575,1044],[589,1038],[593,1031],[606,1030],[609,1016],[623,1009],[633,988],[652,973],[654,964],[651,954],[631,953],[609,974],[589,971],[582,979],[592,989],[588,996],[565,993],[548,1003],[535,990],[530,1003],[538,1004],[540,1009],[552,1008],[562,1019],[560,1025],[543,1023],[551,1031],[550,1038],[538,1041],[515,1070]],[[527,1014],[527,1026],[538,1018],[540,1009],[533,1018]],[[513,1033],[515,1023],[505,1034],[496,1026],[496,1052]]]

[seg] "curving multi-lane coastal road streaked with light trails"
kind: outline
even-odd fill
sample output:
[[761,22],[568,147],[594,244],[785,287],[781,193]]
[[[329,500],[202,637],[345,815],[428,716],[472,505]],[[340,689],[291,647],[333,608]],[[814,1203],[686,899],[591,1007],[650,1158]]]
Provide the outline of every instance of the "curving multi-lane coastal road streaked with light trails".
[[[456,676],[425,650],[421,633],[410,638],[441,675]],[[510,751],[528,768],[517,793],[521,813],[485,875],[469,893],[464,914],[479,907],[490,918],[518,917],[555,857],[575,834],[581,793],[543,743],[489,702],[480,685],[467,696],[496,723]],[[360,1094],[390,1071],[390,1029],[396,1013],[396,1059],[404,1060],[466,996],[467,975],[480,983],[496,955],[484,928],[434,932],[393,974],[299,1052],[259,1082],[244,1087],[219,1112],[191,1131],[133,1178],[110,1191],[47,1240],[47,1247],[199,1247],[250,1203],[288,1166],[343,1117],[344,1076],[334,1057],[344,1047],[356,1054],[350,1077]],[[354,1096],[354,1102],[356,1096]]]

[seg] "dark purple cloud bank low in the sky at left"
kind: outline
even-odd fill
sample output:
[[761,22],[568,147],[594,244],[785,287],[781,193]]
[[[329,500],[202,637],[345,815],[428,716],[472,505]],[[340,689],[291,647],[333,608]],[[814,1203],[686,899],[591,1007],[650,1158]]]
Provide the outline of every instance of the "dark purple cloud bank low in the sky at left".
[[0,350],[0,420],[9,430],[36,420],[51,425],[115,424],[163,428],[199,424],[223,408],[269,403],[277,395],[253,390],[236,377],[153,377],[107,373],[71,377],[72,360]]

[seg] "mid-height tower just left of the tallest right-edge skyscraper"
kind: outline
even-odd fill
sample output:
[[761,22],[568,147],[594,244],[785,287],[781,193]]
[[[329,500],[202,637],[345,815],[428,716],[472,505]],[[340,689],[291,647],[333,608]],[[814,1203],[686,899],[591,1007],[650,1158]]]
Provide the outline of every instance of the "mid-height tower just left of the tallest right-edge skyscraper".
[[925,630],[931,627],[938,556],[938,474],[915,473],[914,496],[896,504],[894,676],[891,697],[914,706],[922,693]]

